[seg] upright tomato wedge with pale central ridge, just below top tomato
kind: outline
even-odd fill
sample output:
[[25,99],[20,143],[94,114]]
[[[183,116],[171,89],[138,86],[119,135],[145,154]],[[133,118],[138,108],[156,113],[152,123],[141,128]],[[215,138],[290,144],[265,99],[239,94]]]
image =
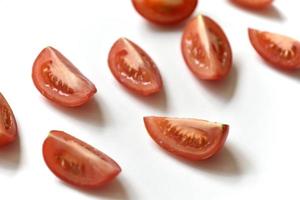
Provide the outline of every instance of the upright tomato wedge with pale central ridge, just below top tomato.
[[181,49],[190,70],[202,80],[220,80],[232,68],[232,51],[222,28],[199,15],[184,30]]

